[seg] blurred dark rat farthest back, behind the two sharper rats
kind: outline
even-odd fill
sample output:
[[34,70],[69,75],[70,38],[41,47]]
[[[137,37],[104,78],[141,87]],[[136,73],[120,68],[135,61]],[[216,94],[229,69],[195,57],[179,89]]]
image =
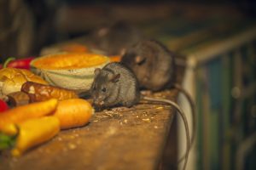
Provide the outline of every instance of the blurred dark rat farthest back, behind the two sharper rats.
[[92,48],[100,49],[107,55],[122,55],[125,49],[143,38],[135,26],[120,20],[110,26],[100,26],[90,32]]

